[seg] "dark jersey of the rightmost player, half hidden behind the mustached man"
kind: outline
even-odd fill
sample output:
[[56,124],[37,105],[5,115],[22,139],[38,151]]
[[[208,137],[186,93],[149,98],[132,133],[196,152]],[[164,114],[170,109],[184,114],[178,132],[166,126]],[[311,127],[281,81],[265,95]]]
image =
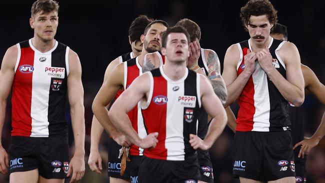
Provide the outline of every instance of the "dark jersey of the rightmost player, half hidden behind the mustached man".
[[304,111],[302,106],[289,103],[289,116],[291,121],[292,144],[304,139]]

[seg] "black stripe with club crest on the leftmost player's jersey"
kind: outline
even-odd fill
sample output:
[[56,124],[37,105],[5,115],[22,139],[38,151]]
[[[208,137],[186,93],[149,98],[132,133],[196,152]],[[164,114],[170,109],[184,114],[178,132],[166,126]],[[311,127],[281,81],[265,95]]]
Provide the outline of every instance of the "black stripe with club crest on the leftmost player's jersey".
[[51,53],[51,66],[64,67],[65,77],[64,79],[51,78],[47,114],[49,135],[67,133],[67,122],[65,119],[65,104],[67,96],[65,51],[66,45],[58,42],[56,49]]

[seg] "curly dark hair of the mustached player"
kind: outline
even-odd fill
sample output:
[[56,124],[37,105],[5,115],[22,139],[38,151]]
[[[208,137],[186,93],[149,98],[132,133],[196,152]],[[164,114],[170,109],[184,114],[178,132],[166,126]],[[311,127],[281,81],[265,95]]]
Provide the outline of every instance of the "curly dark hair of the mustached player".
[[270,23],[273,23],[274,25],[277,22],[276,13],[277,10],[273,7],[273,5],[269,0],[248,0],[248,2],[240,8],[240,19],[242,25],[247,31],[245,25],[249,24],[249,18],[251,15],[253,16],[266,15],[268,21]]

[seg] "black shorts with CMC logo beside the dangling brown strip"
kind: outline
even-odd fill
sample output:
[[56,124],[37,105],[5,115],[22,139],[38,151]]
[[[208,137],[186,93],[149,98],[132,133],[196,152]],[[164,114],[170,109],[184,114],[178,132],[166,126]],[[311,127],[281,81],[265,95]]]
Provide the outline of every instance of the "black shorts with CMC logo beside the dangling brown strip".
[[120,175],[120,162],[122,158],[118,158],[119,149],[122,146],[109,137],[108,139],[108,162],[107,162],[107,174],[109,177],[120,178],[124,180],[130,179],[129,162],[126,161],[126,168],[123,176]]

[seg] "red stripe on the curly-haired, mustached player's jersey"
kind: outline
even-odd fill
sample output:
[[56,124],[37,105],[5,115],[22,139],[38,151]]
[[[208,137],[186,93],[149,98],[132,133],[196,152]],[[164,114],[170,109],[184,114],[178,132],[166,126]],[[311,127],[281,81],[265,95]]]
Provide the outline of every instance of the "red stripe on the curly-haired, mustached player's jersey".
[[[243,57],[238,67],[237,75],[243,71],[244,55],[247,54],[247,49],[246,47],[242,49]],[[250,75],[238,98],[239,110],[236,120],[236,131],[251,131],[253,129],[253,116],[255,113],[254,92],[253,78]]]

